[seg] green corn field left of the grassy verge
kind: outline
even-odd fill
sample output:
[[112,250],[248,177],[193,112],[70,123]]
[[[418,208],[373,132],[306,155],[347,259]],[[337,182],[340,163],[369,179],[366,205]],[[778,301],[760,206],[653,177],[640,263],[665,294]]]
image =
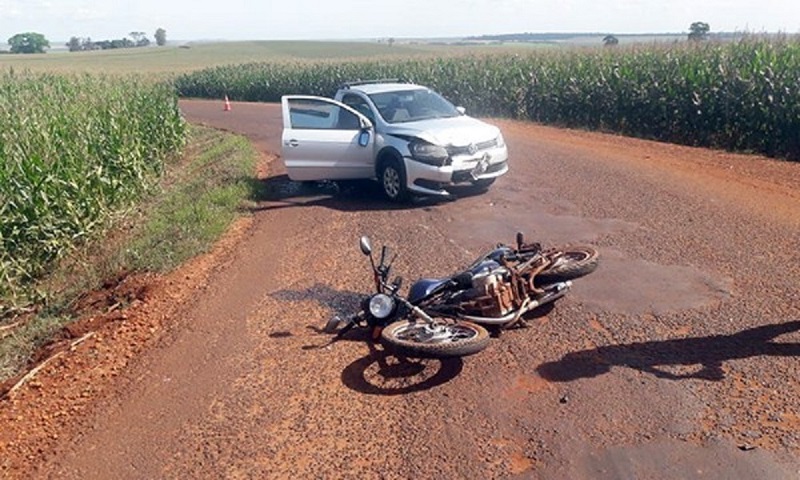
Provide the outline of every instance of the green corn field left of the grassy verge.
[[0,74],[0,298],[131,204],[184,141],[172,85]]

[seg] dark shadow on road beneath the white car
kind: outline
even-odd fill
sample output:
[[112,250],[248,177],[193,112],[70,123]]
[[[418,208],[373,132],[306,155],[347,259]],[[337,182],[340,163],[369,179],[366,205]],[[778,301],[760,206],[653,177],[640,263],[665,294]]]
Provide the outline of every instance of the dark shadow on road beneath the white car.
[[287,175],[255,180],[252,197],[259,205],[253,211],[277,210],[289,207],[321,206],[341,211],[407,210],[448,203],[457,198],[485,193],[485,189],[457,186],[451,197],[414,197],[405,203],[387,200],[378,182],[348,180],[342,182],[294,182]]

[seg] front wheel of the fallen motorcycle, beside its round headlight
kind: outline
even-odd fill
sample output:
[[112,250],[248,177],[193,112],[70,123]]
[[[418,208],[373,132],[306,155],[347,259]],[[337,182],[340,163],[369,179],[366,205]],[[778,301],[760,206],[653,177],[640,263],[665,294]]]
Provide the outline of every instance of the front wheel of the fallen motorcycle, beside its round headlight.
[[383,329],[381,341],[396,355],[411,358],[465,357],[489,345],[489,332],[470,322],[429,325],[401,320]]

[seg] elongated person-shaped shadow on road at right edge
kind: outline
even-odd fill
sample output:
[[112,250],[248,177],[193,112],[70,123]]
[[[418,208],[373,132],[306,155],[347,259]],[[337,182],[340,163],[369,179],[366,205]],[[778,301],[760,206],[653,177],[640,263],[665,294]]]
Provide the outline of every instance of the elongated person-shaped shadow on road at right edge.
[[[681,380],[697,378],[719,381],[725,375],[722,364],[727,360],[759,356],[800,356],[800,343],[779,343],[772,340],[782,334],[800,330],[800,321],[764,325],[733,335],[630,343],[582,350],[565,355],[561,360],[536,368],[539,375],[554,382],[569,382],[596,377],[622,366],[651,373],[659,378]],[[689,373],[673,373],[669,368],[699,365]]]

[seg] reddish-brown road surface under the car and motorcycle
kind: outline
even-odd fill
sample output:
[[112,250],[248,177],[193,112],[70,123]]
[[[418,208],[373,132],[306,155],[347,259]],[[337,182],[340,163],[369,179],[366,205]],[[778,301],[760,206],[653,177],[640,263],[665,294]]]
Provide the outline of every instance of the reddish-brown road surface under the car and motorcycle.
[[[291,184],[279,109],[221,107],[182,103],[258,146],[265,198],[130,326],[0,403],[3,476],[800,476],[800,164],[497,121],[509,175],[398,207]],[[518,230],[602,265],[464,360],[325,345],[317,328],[369,290],[359,235],[412,279]]]

